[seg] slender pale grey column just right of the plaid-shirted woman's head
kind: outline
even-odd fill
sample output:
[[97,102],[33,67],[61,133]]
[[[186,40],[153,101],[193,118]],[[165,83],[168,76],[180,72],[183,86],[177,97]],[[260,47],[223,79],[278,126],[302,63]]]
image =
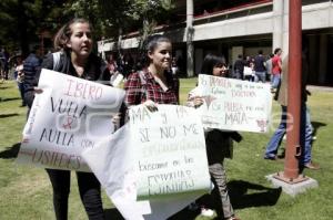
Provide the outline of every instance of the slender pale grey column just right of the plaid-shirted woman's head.
[[186,0],[186,74],[188,77],[194,75],[193,72],[193,56],[194,56],[194,46],[193,46],[193,0]]

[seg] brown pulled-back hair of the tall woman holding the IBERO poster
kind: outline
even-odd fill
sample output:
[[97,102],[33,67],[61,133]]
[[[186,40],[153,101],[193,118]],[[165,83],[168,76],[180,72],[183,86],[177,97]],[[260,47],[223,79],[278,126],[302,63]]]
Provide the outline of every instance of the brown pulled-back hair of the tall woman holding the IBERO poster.
[[60,51],[60,50],[68,51],[69,50],[67,48],[67,43],[71,38],[71,34],[72,34],[71,25],[73,23],[88,23],[91,32],[93,32],[92,25],[87,19],[74,18],[74,19],[70,20],[69,22],[67,22],[63,27],[61,27],[59,29],[59,31],[56,33],[54,41],[53,41],[53,46],[54,46],[56,51]]

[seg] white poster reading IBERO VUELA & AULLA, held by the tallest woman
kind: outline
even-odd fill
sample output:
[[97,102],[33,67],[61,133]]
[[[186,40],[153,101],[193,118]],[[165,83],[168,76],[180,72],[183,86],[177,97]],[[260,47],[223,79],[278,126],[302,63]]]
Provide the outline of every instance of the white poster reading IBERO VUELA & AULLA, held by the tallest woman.
[[113,132],[122,90],[42,70],[18,163],[89,171],[81,151]]

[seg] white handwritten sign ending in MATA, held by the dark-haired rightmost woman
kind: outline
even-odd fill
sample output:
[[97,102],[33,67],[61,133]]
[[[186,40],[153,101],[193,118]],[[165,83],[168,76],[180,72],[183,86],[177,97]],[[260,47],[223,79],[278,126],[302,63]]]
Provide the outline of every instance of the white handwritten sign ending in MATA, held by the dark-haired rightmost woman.
[[270,85],[199,75],[204,104],[198,111],[204,127],[240,132],[268,132],[271,122]]

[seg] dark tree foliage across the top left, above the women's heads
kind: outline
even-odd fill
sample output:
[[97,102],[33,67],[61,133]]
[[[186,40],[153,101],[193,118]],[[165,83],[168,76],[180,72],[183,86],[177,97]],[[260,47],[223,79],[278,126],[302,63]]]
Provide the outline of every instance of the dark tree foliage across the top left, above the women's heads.
[[98,40],[134,30],[144,39],[172,6],[172,0],[1,0],[0,45],[28,53],[41,32],[54,34],[74,17],[89,19]]

